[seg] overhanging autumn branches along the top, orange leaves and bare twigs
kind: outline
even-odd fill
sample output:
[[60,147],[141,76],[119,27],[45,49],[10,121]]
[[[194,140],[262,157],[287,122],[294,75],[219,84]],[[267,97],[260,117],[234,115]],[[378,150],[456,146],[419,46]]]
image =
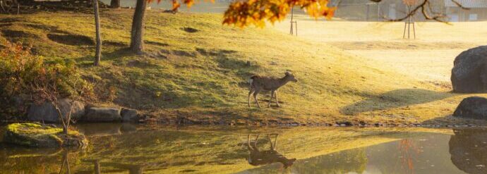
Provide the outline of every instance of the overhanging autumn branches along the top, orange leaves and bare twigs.
[[[155,0],[148,0],[149,2]],[[157,0],[160,2],[161,0]],[[172,0],[172,10],[176,11],[182,4],[191,7],[198,0]],[[211,1],[214,0],[205,0]],[[328,3],[331,0],[241,0],[234,1],[229,5],[229,8],[224,13],[223,24],[234,25],[238,27],[246,27],[248,25],[255,25],[257,27],[264,27],[265,21],[275,23],[286,18],[287,13],[291,8],[298,6],[303,9],[308,15],[313,18],[324,17],[331,19],[335,14],[337,7],[330,7]],[[373,2],[381,2],[383,0],[369,0]],[[457,6],[464,8],[457,0],[450,0]],[[409,13],[402,18],[390,19],[391,21],[399,21],[407,19],[411,15],[421,13],[426,20],[437,20],[444,22],[445,14],[437,13],[431,8],[431,0],[403,0],[404,4],[414,6]],[[467,9],[467,8],[464,8]]]

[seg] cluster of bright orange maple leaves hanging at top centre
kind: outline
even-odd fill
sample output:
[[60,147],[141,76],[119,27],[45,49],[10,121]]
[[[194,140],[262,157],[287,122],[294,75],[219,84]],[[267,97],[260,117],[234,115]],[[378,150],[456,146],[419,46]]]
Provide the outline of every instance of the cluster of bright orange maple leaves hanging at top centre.
[[328,7],[329,0],[247,0],[235,1],[224,13],[223,24],[246,27],[264,27],[265,21],[282,21],[293,6],[304,9],[315,18],[332,18],[335,8]]

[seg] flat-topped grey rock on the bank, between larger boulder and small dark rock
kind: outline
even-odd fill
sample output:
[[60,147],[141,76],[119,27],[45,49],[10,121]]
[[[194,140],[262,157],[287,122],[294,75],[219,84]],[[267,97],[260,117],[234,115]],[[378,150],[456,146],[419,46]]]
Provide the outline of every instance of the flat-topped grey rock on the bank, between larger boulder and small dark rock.
[[81,120],[86,122],[111,122],[121,120],[121,109],[116,107],[91,107]]

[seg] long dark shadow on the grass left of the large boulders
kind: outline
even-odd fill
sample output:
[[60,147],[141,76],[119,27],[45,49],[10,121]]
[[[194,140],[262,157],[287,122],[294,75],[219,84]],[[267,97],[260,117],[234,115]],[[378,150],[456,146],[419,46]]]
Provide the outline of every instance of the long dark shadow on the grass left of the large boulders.
[[340,113],[354,115],[356,113],[367,111],[378,111],[414,104],[424,104],[453,96],[455,96],[455,94],[435,92],[427,89],[396,89],[377,96],[367,96],[368,99],[344,106],[340,109]]

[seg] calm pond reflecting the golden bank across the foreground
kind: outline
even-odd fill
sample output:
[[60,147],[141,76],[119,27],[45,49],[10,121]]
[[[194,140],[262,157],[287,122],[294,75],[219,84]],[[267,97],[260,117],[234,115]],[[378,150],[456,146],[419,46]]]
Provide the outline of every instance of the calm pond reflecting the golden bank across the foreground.
[[86,149],[0,144],[0,173],[487,173],[486,128],[76,129]]

